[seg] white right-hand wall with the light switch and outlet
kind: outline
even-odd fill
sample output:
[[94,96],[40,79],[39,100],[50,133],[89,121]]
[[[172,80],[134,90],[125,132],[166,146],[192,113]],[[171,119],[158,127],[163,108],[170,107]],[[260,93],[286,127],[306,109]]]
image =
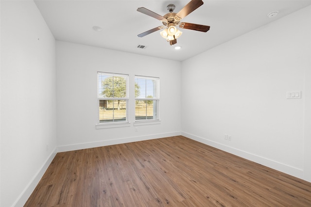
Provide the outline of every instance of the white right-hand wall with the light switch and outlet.
[[311,181],[310,57],[309,6],[184,61],[182,134]]

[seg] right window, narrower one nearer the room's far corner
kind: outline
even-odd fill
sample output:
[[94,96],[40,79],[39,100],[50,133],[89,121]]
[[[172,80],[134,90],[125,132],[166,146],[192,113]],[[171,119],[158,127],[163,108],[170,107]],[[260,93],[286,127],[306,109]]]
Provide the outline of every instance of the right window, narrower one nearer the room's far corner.
[[135,76],[135,120],[159,120],[159,78]]

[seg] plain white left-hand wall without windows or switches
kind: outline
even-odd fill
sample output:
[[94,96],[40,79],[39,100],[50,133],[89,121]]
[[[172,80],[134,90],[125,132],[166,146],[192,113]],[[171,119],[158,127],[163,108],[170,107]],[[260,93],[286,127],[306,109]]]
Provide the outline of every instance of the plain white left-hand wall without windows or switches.
[[20,207],[56,152],[55,40],[33,1],[0,3],[0,206]]

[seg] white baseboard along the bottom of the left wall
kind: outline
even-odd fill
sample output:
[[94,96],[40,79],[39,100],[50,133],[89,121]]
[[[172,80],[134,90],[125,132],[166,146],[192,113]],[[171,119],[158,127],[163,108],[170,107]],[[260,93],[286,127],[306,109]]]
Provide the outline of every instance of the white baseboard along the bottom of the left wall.
[[44,175],[45,171],[48,169],[49,165],[51,164],[52,160],[54,159],[56,153],[57,153],[57,151],[56,151],[56,147],[55,147],[55,149],[52,151],[52,153],[50,154],[48,159],[46,159],[46,161],[44,162],[41,169],[35,174],[35,176],[29,182],[29,184],[27,185],[25,190],[22,191],[22,193],[18,196],[16,202],[13,204],[13,207],[23,207],[25,205],[25,203],[28,200],[28,198],[30,197],[31,193],[33,193],[33,191],[35,190],[35,187],[37,186],[40,179]]

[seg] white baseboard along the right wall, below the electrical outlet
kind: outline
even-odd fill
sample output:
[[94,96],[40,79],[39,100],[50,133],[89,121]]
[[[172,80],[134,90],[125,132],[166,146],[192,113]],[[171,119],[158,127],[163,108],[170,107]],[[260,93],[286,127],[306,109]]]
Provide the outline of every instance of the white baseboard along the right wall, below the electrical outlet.
[[302,169],[298,169],[298,168],[295,168],[293,166],[289,166],[289,165],[286,165],[286,164],[283,164],[283,163],[280,163],[280,162],[277,162],[277,161],[274,161],[271,159],[260,157],[258,155],[255,155],[255,154],[252,154],[249,152],[245,152],[245,151],[242,151],[240,149],[224,145],[222,143],[217,143],[217,142],[208,140],[206,138],[198,137],[196,135],[193,135],[193,134],[190,134],[187,132],[181,132],[181,135],[188,137],[192,140],[198,141],[200,143],[205,143],[209,146],[215,147],[217,149],[223,150],[223,151],[231,153],[233,155],[239,156],[241,158],[248,159],[248,160],[251,160],[253,162],[259,163],[259,164],[264,165],[266,167],[270,167],[272,169],[286,173],[288,175],[293,175],[293,176],[298,177],[300,179],[303,179],[303,177],[304,177],[304,172]]

